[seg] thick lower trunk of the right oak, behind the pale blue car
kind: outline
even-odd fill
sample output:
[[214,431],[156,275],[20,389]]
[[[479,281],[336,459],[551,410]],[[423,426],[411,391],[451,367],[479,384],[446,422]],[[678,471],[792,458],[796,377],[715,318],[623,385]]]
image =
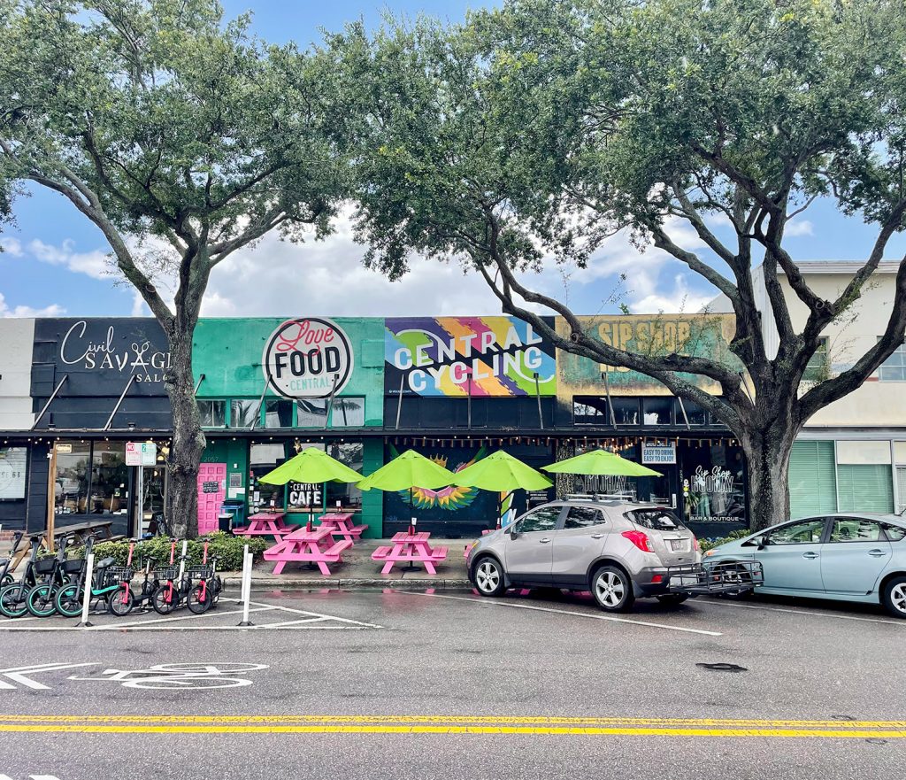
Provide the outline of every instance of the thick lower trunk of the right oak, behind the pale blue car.
[[[788,419],[788,418],[787,418]],[[795,426],[775,422],[740,439],[748,463],[749,525],[758,531],[789,520],[788,470]]]

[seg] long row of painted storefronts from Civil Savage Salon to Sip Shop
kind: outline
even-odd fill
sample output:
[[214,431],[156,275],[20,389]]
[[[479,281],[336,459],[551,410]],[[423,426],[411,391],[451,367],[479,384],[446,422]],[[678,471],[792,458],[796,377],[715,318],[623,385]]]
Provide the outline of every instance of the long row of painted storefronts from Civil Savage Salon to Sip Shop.
[[[594,332],[627,348],[644,338],[675,346],[670,338],[690,337],[690,319],[589,318]],[[226,498],[244,502],[246,512],[271,501],[292,509],[303,488],[317,486],[265,493],[257,478],[304,446],[341,455],[364,473],[410,448],[456,471],[496,449],[537,468],[601,446],[663,476],[561,476],[548,492],[516,492],[512,508],[518,513],[557,495],[598,492],[674,506],[702,537],[747,523],[745,462],[732,435],[647,377],[556,354],[509,317],[346,318],[333,325],[350,345],[348,385],[333,399],[293,399],[273,392],[263,371],[262,348],[280,321],[202,321],[194,366],[206,419],[205,467],[214,476],[199,480],[199,500],[217,503],[212,512]],[[714,353],[727,341],[718,327],[697,343]],[[50,512],[57,526],[103,518],[117,533],[149,530],[167,491],[168,361],[154,320],[36,321],[34,430],[4,434],[5,446],[27,450],[27,495],[0,504],[5,531],[26,521],[29,530],[42,530]],[[153,461],[128,464],[130,444],[152,445]],[[202,492],[215,482],[217,492]],[[369,536],[390,536],[415,515],[419,528],[460,538],[492,527],[502,498],[417,490],[410,505],[407,492],[336,486],[320,497],[361,512]]]

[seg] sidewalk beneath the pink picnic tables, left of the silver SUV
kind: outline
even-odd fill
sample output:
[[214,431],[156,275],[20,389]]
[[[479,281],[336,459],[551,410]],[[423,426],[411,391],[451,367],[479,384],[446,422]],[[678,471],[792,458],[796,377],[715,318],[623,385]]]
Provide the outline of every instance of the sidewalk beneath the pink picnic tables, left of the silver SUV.
[[[331,576],[324,577],[317,568],[309,569],[304,563],[287,563],[282,574],[273,574],[273,561],[255,563],[252,572],[252,587],[259,588],[470,588],[466,559],[463,551],[470,540],[434,539],[431,547],[448,547],[447,560],[435,564],[437,574],[420,571],[400,571],[396,564],[390,574],[381,574],[382,561],[372,561],[371,553],[386,540],[363,539],[342,554],[342,563],[331,564]],[[224,581],[230,586],[239,586],[241,571],[226,571]]]

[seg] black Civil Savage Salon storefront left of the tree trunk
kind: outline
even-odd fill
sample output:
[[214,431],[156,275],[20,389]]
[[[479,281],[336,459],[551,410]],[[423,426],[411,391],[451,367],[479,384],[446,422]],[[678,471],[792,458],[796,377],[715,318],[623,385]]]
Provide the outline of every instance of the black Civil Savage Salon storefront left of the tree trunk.
[[[164,375],[169,352],[144,318],[38,319],[34,327],[29,473],[25,519],[43,530],[111,522],[131,534],[162,512],[171,434]],[[146,444],[144,465],[128,463]]]

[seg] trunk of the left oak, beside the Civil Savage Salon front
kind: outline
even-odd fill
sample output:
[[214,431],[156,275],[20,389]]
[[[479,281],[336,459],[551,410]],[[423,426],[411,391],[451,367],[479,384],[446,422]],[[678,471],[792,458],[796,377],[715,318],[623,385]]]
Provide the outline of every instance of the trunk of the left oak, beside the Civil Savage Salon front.
[[181,539],[198,536],[198,465],[205,451],[198,402],[192,375],[192,332],[170,338],[170,368],[167,394],[173,410],[173,442],[170,446],[167,520]]

